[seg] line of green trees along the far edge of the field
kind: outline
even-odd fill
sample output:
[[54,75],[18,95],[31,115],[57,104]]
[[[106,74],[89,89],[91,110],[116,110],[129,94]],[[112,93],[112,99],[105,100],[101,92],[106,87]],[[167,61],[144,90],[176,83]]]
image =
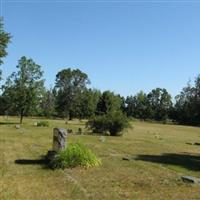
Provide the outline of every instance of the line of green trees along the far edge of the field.
[[17,71],[2,86],[1,115],[44,116],[88,119],[110,112],[142,120],[174,121],[200,125],[200,75],[193,85],[172,97],[166,89],[148,94],[140,91],[123,97],[111,91],[89,88],[88,75],[79,69],[63,69],[55,76],[51,89],[44,87],[43,71],[32,59],[22,57]]

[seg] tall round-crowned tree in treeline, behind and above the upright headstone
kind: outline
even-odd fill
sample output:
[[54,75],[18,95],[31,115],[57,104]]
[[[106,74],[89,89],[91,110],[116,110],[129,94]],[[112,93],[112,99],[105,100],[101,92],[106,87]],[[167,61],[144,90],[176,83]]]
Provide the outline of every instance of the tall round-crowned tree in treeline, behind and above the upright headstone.
[[90,81],[79,69],[63,69],[56,75],[56,110],[61,117],[72,119],[81,113],[81,94]]

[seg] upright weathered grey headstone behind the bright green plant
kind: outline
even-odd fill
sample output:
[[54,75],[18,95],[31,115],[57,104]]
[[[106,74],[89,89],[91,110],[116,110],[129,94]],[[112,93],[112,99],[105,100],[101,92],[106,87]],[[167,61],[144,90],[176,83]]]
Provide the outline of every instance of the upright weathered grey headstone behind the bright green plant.
[[53,129],[53,151],[60,151],[65,149],[65,139],[67,131],[63,128]]

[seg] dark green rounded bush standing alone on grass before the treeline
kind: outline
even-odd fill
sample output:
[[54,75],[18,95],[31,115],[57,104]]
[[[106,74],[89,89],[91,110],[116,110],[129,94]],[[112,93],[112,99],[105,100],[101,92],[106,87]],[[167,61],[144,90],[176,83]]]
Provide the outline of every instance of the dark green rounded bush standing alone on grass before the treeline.
[[110,133],[111,136],[122,135],[124,128],[129,126],[127,117],[120,111],[110,112],[105,115],[95,116],[89,120],[87,127],[94,133]]

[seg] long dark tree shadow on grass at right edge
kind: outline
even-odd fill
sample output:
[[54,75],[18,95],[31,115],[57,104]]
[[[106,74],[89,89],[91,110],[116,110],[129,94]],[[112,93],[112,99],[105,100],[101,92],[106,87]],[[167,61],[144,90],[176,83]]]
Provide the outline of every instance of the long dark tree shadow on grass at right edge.
[[138,155],[135,160],[142,160],[166,165],[176,165],[192,171],[200,171],[200,155],[162,154]]

